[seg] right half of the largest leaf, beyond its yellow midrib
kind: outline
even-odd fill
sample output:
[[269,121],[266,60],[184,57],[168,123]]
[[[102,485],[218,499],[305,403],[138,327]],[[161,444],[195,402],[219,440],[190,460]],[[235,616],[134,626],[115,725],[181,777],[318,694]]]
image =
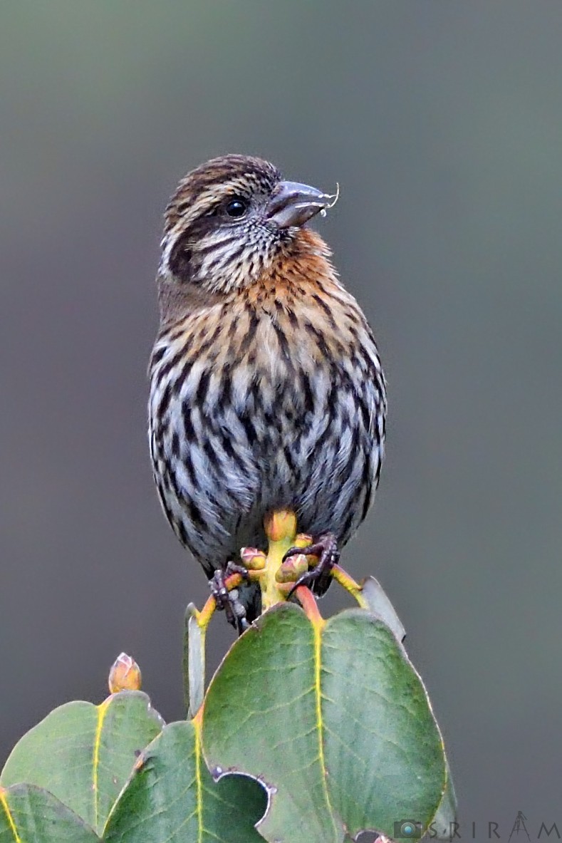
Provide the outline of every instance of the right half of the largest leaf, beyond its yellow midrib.
[[322,636],[325,760],[332,806],[351,835],[393,835],[413,817],[424,829],[445,788],[442,738],[426,690],[380,620],[350,609]]

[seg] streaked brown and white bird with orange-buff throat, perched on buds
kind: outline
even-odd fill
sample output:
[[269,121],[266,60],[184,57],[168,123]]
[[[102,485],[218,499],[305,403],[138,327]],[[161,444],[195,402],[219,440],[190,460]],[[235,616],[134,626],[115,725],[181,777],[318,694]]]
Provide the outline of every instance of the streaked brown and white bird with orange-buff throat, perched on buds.
[[[307,225],[334,198],[228,154],[180,180],[164,213],[150,454],[163,512],[219,608],[227,566],[264,546],[264,518],[281,509],[319,557],[298,583],[324,593],[377,489],[387,414],[377,343]],[[259,614],[259,589],[243,586],[228,620],[240,632]]]

